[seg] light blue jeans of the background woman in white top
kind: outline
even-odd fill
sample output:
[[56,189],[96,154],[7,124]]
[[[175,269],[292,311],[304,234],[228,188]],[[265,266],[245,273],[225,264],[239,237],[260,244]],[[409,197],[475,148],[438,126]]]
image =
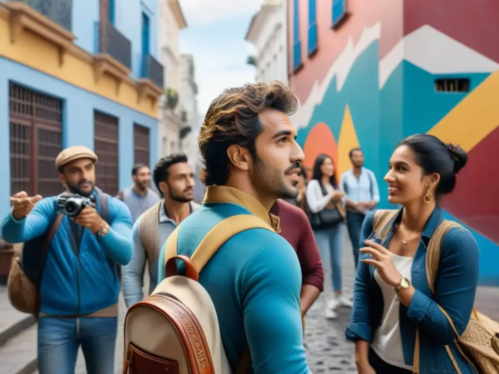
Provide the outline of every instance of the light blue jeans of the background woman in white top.
[[341,226],[342,224],[339,223],[330,228],[314,231],[315,241],[319,247],[323,263],[325,263],[329,252],[333,291],[341,291]]

